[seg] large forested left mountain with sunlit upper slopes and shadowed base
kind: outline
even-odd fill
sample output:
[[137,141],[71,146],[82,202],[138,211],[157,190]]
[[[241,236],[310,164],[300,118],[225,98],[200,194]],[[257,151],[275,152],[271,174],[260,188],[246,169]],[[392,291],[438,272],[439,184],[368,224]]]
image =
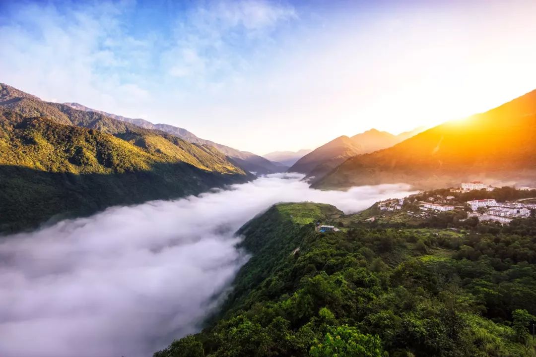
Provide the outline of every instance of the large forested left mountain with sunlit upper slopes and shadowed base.
[[0,84],[0,232],[254,178],[220,151]]

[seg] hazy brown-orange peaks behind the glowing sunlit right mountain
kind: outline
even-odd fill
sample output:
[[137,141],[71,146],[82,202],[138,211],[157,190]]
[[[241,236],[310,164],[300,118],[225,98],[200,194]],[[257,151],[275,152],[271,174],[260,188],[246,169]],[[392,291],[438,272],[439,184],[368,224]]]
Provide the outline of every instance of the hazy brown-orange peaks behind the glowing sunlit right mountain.
[[303,156],[288,171],[304,173],[309,177],[318,179],[349,157],[391,147],[413,136],[420,130],[422,129],[419,128],[411,132],[393,135],[388,132],[371,129],[351,138],[346,135],[339,136],[337,139],[333,139]]

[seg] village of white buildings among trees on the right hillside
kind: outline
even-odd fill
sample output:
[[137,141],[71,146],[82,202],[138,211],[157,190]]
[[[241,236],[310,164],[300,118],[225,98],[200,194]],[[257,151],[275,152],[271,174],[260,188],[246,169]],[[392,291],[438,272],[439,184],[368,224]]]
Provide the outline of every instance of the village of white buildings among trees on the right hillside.
[[[467,211],[467,219],[476,217],[479,221],[494,221],[502,224],[508,224],[515,218],[526,218],[536,210],[536,200],[519,199],[515,201],[497,202],[495,199],[473,199],[460,200],[461,194],[471,191],[492,192],[496,187],[488,186],[481,181],[472,181],[470,183],[461,183],[458,188],[451,188],[450,194],[436,194],[427,198],[421,198],[424,192],[410,195],[404,199],[389,199],[378,202],[378,209],[383,212],[396,212],[405,209],[408,216],[415,218],[428,218],[439,212],[448,212],[456,210]],[[516,187],[517,191],[534,191],[533,197],[536,197],[536,188],[534,187]],[[418,199],[420,198],[420,199]],[[367,221],[375,221],[375,217],[370,217]]]

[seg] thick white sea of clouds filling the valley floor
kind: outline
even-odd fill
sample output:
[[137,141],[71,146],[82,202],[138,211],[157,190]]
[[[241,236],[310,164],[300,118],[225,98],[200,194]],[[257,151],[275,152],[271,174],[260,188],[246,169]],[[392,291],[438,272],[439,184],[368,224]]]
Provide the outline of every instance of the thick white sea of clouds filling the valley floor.
[[3,238],[0,356],[151,356],[199,330],[248,259],[234,233],[272,204],[351,213],[411,193],[402,184],[317,191],[302,177],[273,174]]

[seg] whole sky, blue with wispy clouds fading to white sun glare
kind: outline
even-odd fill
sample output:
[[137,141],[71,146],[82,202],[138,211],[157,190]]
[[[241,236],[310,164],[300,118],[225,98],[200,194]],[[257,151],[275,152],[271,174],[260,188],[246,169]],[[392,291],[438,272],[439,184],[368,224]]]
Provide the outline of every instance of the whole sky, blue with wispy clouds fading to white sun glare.
[[536,2],[0,0],[0,82],[256,154],[536,88]]

